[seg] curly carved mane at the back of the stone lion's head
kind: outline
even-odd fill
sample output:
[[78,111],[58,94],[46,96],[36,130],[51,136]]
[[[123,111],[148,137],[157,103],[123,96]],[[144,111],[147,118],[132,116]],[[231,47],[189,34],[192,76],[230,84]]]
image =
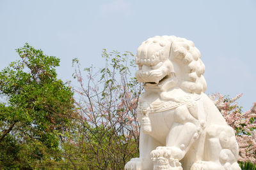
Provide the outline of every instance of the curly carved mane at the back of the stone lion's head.
[[180,89],[197,94],[205,92],[207,85],[203,76],[205,66],[200,59],[201,53],[192,41],[173,36],[171,39],[170,59],[182,67],[182,73],[176,73]]

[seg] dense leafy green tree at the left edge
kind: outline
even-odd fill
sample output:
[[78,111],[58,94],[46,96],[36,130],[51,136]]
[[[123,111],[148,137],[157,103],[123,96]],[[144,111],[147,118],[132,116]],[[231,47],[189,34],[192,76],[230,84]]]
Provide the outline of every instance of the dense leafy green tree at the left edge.
[[73,92],[57,78],[60,59],[26,43],[0,72],[0,169],[35,169],[61,159]]

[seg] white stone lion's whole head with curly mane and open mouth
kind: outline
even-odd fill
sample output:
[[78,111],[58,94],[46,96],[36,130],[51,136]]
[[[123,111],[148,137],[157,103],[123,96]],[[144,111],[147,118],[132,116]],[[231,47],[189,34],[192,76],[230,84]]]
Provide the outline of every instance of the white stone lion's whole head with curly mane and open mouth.
[[155,36],[141,43],[135,76],[146,91],[166,92],[179,87],[200,94],[206,90],[205,66],[192,41],[176,36]]

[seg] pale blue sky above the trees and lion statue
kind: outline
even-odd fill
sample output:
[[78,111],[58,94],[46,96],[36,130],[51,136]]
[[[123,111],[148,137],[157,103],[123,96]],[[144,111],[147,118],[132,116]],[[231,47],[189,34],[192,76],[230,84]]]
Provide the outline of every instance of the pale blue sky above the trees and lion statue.
[[256,0],[0,0],[0,69],[28,42],[59,57],[59,77],[72,80],[74,57],[83,67],[104,66],[102,48],[136,53],[156,35],[194,41],[207,94],[243,93],[244,111],[256,101]]

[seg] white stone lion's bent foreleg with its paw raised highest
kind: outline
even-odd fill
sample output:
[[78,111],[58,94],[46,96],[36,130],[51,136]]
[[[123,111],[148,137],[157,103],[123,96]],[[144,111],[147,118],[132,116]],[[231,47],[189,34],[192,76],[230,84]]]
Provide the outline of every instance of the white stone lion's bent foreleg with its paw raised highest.
[[166,137],[166,146],[159,146],[151,152],[154,169],[182,169],[179,160],[184,158],[202,132],[202,125],[193,117],[196,106],[193,107],[188,109],[183,105],[176,108],[175,123]]

